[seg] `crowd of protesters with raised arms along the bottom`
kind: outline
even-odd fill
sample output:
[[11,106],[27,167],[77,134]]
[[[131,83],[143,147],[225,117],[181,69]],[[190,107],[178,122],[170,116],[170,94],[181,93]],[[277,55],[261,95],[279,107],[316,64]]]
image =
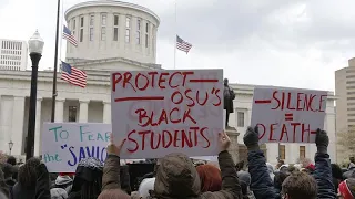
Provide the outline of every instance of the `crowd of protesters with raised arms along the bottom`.
[[[184,154],[169,154],[159,159],[154,171],[141,179],[138,190],[132,190],[129,174],[120,169],[121,145],[111,140],[108,157],[102,164],[93,157],[82,159],[75,174],[49,174],[39,158],[18,165],[13,157],[3,159],[0,170],[1,199],[353,199],[355,196],[355,166],[342,170],[331,165],[326,132],[317,129],[314,165],[285,165],[275,167],[266,163],[258,146],[257,127],[248,127],[244,135],[247,147],[247,167],[235,165],[227,148],[231,144],[225,133],[219,135],[219,167],[194,164]],[[121,172],[120,172],[121,171]],[[143,177],[144,178],[144,177]]]

